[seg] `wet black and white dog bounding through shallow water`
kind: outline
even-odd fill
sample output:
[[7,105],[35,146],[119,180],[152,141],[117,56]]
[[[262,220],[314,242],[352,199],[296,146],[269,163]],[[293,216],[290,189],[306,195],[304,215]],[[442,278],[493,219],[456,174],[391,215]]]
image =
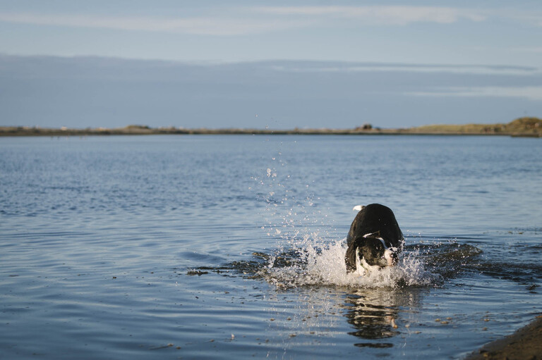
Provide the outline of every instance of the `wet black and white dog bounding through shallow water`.
[[347,236],[347,273],[368,275],[373,270],[394,266],[404,237],[393,211],[380,204],[356,206],[354,210],[359,212]]

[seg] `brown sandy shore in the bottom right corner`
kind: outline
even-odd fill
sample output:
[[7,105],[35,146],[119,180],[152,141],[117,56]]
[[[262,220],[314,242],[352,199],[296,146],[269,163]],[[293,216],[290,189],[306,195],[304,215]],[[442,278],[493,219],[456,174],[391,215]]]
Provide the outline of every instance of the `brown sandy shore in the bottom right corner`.
[[465,358],[478,359],[542,359],[542,315],[512,335],[490,342]]

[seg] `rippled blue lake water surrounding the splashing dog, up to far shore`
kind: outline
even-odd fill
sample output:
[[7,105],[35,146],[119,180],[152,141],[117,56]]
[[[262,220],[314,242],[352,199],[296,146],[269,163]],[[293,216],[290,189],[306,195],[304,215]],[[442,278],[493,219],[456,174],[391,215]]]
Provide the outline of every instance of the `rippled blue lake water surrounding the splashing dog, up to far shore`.
[[[352,207],[406,237],[347,275]],[[460,359],[542,311],[542,141],[0,139],[1,359]]]

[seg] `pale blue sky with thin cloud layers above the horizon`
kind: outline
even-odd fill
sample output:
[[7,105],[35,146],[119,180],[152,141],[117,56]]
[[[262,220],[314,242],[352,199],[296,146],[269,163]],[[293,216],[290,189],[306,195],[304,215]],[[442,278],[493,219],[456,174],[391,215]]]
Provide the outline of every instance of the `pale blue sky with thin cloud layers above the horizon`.
[[0,125],[542,117],[542,2],[0,0]]

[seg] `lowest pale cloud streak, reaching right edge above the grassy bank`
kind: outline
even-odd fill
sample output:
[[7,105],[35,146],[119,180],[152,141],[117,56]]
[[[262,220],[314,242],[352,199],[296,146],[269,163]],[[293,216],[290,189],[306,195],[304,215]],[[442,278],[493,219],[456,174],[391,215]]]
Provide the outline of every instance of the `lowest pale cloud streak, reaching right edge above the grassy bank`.
[[542,86],[525,87],[447,87],[430,92],[409,92],[416,97],[515,97],[534,101],[542,100]]

